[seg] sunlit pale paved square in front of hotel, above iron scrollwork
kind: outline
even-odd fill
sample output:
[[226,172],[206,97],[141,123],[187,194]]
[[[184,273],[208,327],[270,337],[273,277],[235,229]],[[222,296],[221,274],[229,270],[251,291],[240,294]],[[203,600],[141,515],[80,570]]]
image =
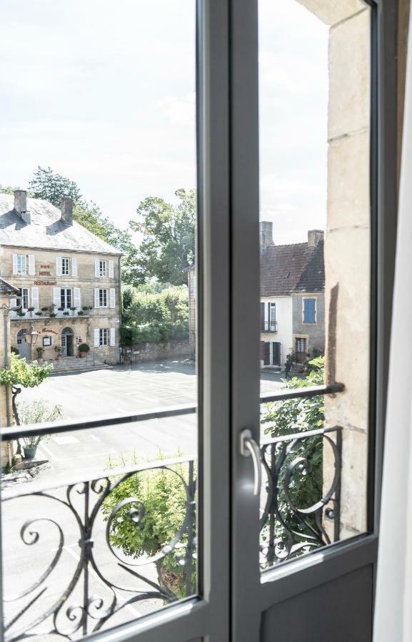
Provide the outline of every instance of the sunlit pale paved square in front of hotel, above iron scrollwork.
[[[263,376],[263,392],[281,387],[278,375]],[[196,391],[194,365],[149,362],[50,377],[39,388],[24,390],[21,399],[48,399],[61,405],[65,419],[87,419],[196,404]],[[39,458],[49,459],[51,469],[45,474],[56,479],[99,472],[114,462],[174,457],[196,449],[196,415],[187,415],[55,435],[41,442]]]

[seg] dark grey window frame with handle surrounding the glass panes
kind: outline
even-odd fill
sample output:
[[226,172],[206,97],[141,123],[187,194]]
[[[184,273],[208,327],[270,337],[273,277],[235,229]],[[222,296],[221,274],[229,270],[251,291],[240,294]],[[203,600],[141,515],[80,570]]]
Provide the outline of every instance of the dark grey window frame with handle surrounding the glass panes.
[[[373,162],[371,173],[372,210],[376,216],[371,244],[375,268],[371,283],[375,302],[371,310],[371,354],[376,354],[376,359],[371,360],[371,422],[376,432],[370,442],[370,534],[324,550],[322,564],[314,554],[275,571],[276,581],[271,581],[273,575],[265,584],[259,584],[258,596],[250,590],[251,579],[260,582],[258,564],[253,555],[246,554],[245,558],[243,554],[254,546],[258,551],[258,529],[256,534],[253,529],[241,531],[245,516],[253,524],[256,501],[250,492],[250,462],[238,454],[238,432],[246,424],[258,437],[257,2],[199,0],[198,8],[202,597],[88,638],[96,641],[184,642],[206,638],[211,642],[255,642],[259,615],[273,604],[273,591],[276,601],[281,602],[351,569],[376,563],[396,243],[396,2],[376,2],[373,27],[377,55],[373,66],[376,93],[371,158],[378,158],[378,163]],[[242,288],[252,293],[246,306]],[[250,403],[251,397],[255,403]],[[245,482],[243,487],[239,480]],[[239,496],[246,491],[246,515],[241,517]],[[242,544],[246,549],[242,550]],[[241,613],[246,598],[251,608]],[[230,612],[233,619],[229,631]]]

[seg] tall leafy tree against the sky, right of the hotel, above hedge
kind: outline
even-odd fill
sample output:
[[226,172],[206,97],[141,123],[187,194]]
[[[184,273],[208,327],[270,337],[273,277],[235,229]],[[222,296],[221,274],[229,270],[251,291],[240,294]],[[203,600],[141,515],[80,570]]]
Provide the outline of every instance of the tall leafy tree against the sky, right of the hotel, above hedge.
[[153,277],[162,283],[186,283],[186,268],[194,263],[196,194],[180,189],[176,196],[178,205],[154,196],[146,198],[136,210],[139,220],[129,223],[132,230],[143,234],[134,284]]

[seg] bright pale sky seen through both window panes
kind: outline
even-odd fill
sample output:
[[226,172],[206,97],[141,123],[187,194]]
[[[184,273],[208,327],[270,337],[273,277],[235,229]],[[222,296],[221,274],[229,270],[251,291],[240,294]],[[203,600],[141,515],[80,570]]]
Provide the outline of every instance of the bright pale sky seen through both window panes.
[[[293,243],[326,220],[328,30],[259,14],[260,216]],[[1,0],[0,61],[1,185],[50,166],[123,228],[196,187],[194,0]]]

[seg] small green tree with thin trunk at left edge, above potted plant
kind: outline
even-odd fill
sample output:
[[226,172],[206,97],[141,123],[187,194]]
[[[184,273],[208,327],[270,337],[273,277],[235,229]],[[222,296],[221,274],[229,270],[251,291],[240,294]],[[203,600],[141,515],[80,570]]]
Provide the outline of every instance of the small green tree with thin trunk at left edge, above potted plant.
[[14,420],[18,426],[21,425],[19,410],[16,404],[16,397],[22,388],[34,388],[39,386],[44,379],[49,377],[53,365],[39,365],[36,361],[26,363],[13,352],[10,355],[10,365],[0,370],[0,385],[11,387],[11,404],[13,407]]

